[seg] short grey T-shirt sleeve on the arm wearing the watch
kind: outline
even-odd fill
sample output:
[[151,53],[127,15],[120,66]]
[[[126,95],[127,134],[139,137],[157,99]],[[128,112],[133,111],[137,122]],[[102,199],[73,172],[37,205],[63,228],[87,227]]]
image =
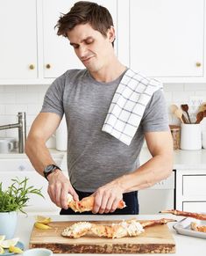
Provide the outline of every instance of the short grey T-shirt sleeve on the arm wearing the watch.
[[65,75],[56,78],[46,91],[41,113],[57,113],[60,118],[64,114],[63,94]]

